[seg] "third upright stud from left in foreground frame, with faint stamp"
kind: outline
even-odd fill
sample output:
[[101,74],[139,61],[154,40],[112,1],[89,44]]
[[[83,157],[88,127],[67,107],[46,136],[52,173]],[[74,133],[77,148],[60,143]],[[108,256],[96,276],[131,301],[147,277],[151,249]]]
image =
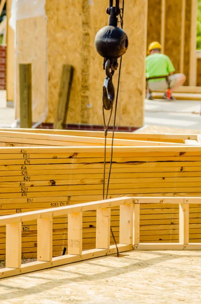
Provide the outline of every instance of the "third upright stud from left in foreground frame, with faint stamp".
[[82,254],[83,213],[68,214],[68,254]]

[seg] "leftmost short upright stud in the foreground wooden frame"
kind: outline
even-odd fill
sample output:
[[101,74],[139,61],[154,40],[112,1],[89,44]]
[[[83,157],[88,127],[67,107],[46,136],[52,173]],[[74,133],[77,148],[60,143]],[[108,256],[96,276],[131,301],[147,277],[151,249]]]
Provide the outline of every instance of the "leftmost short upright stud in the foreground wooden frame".
[[22,222],[6,225],[6,268],[21,267]]

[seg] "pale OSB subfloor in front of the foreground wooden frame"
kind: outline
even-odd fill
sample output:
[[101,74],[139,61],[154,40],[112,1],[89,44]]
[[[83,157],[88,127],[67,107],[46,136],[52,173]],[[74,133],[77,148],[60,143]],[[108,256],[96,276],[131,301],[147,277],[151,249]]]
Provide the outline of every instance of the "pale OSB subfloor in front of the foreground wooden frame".
[[0,281],[0,302],[201,302],[201,251],[130,251]]

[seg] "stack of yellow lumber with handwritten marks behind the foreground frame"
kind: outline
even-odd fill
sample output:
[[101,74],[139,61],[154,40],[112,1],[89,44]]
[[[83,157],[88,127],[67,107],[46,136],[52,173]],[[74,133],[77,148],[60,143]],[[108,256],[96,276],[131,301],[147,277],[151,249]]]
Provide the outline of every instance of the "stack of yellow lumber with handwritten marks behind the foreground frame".
[[[0,147],[0,215],[102,199],[102,132],[16,131],[0,130],[1,143],[17,145]],[[107,143],[106,177],[111,140]],[[200,181],[198,135],[116,133],[108,198],[201,196]],[[190,241],[198,242],[201,210],[197,205],[190,208]],[[113,208],[111,215],[118,242],[118,208]],[[95,248],[96,212],[84,212],[83,216],[83,247]],[[53,220],[54,256],[67,247],[67,222],[67,216]],[[179,206],[143,204],[140,226],[141,242],[178,242]],[[36,221],[22,224],[23,258],[36,256],[36,230]],[[5,257],[5,234],[5,226],[0,227],[0,260]]]

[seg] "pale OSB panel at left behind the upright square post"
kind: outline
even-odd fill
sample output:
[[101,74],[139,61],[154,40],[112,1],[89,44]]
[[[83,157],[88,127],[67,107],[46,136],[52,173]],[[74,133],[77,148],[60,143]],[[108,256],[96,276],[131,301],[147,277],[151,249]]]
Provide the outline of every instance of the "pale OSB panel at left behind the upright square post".
[[45,16],[17,21],[16,119],[20,117],[19,64],[32,64],[32,121],[43,122],[47,111],[47,20]]

